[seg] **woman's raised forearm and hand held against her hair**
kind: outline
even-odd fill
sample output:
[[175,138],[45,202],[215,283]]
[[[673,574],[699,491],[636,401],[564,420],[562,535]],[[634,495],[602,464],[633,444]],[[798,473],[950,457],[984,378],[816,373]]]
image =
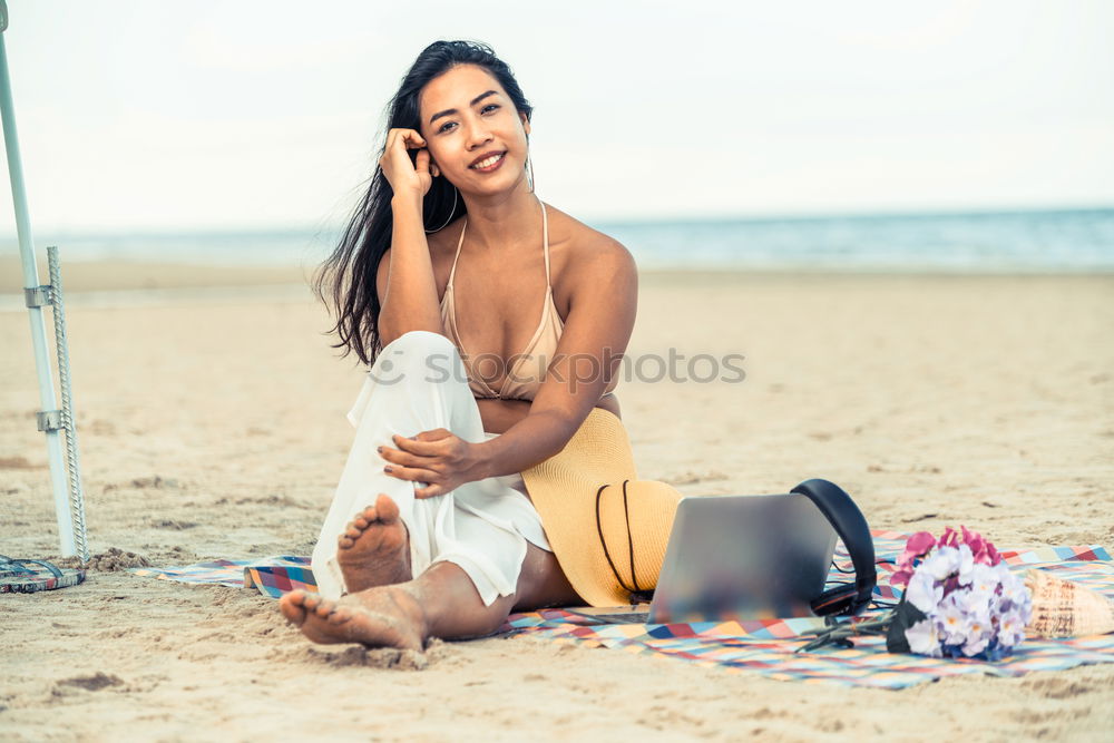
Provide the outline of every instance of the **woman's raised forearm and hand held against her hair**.
[[432,180],[429,153],[421,149],[414,166],[407,154],[408,144],[423,148],[426,140],[412,129],[391,129],[380,159],[394,190],[391,248],[383,255],[375,277],[380,299],[379,338],[384,346],[412,330],[443,332],[433,263],[422,223],[422,197]]

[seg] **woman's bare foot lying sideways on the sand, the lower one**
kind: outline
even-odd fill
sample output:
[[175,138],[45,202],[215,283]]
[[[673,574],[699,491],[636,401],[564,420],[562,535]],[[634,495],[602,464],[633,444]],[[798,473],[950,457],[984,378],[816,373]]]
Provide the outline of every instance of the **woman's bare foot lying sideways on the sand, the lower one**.
[[380,586],[336,602],[293,590],[278,600],[278,608],[314,643],[360,643],[405,651],[426,647],[426,615],[411,592],[401,586]]

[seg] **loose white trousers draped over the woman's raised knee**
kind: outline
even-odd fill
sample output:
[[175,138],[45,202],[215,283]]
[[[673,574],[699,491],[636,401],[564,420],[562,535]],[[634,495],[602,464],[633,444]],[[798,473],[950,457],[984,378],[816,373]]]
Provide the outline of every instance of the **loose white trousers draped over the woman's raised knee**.
[[388,462],[375,448],[397,449],[394,433],[411,437],[443,428],[476,443],[499,436],[483,430],[460,354],[444,335],[412,331],[389,343],[368,372],[348,419],[356,429],[355,441],[313,549],[313,576],[323,596],[345,593],[336,539],[381,492],[399,505],[410,532],[413,577],[433,563],[453,563],[471,578],[485,605],[515,593],[527,541],[553,551],[520,475],[467,482],[446,495],[418,499],[414,490],[424,483],[383,472]]

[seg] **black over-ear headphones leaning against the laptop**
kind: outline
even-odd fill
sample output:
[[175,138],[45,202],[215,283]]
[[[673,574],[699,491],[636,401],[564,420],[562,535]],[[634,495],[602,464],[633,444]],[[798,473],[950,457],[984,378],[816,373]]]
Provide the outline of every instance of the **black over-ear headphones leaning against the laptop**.
[[851,500],[851,496],[834,482],[813,478],[790,492],[808,496],[820,512],[828,517],[854,565],[854,583],[840,584],[817,596],[812,599],[812,612],[817,616],[859,614],[870,604],[878,580],[874,570],[874,542],[870,537],[867,519]]

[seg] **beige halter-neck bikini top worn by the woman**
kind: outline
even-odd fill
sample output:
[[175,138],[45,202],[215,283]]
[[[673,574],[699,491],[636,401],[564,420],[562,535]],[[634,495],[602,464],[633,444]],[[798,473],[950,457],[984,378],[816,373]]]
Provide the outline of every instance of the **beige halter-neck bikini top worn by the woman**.
[[[446,335],[448,335],[449,340],[460,351],[465,369],[468,371],[468,387],[477,400],[532,401],[538,393],[538,389],[541,387],[541,382],[545,381],[546,369],[557,353],[557,342],[560,340],[561,331],[565,329],[565,323],[561,322],[560,315],[557,314],[557,307],[554,305],[554,287],[549,276],[549,215],[546,212],[546,205],[541,204],[541,243],[546,257],[546,299],[541,303],[541,321],[538,323],[537,330],[534,331],[530,342],[526,344],[526,349],[521,353],[515,354],[509,360],[500,359],[500,363],[498,364],[500,369],[492,369],[496,364],[491,363],[492,359],[490,354],[483,354],[479,358],[479,361],[487,361],[487,363],[478,364],[481,368],[477,369],[473,365],[477,358],[470,356],[460,343],[452,280],[457,275],[457,261],[460,258],[460,246],[465,244],[465,231],[467,228],[468,217],[466,216],[463,226],[460,229],[460,239],[457,243],[457,254],[452,257],[449,283],[444,287],[444,296],[441,297],[441,325],[444,327]],[[509,365],[508,361],[510,362]],[[483,366],[487,366],[487,377],[483,374]],[[504,369],[506,369],[506,377],[499,389],[495,390],[488,383],[488,380],[494,381],[497,379]],[[617,382],[618,377],[616,375],[612,379],[604,394],[610,392]]]

